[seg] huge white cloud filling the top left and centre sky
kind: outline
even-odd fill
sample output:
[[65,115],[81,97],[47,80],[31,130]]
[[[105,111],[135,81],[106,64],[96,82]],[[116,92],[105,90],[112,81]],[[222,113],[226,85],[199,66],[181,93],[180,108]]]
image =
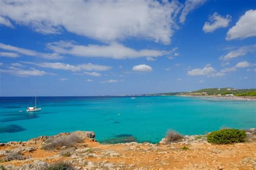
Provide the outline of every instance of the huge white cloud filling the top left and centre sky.
[[103,42],[142,37],[169,44],[180,10],[178,1],[1,1],[1,17],[12,22],[45,34],[65,28]]

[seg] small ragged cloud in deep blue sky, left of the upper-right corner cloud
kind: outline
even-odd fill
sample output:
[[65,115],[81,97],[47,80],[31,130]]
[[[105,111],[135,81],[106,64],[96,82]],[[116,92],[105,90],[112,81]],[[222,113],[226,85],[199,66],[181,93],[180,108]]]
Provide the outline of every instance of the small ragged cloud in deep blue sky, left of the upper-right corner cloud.
[[217,12],[214,12],[213,15],[209,17],[210,22],[206,22],[203,26],[204,32],[213,32],[218,28],[226,28],[228,24],[231,22],[231,16],[226,15],[226,17],[222,17],[218,15]]

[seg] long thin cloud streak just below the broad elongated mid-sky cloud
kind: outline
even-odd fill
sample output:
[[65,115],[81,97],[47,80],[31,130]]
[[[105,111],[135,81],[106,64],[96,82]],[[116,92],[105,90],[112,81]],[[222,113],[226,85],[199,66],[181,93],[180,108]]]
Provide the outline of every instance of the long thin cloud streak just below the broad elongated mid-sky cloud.
[[65,64],[65,63],[33,63],[33,62],[22,62],[25,64],[32,64],[32,65],[37,65],[40,67],[45,67],[45,68],[50,68],[50,69],[56,69],[56,70],[69,70],[69,71],[107,71],[110,70],[110,66],[105,66],[105,65],[96,65],[96,64],[79,64],[79,65],[70,65],[70,64]]

